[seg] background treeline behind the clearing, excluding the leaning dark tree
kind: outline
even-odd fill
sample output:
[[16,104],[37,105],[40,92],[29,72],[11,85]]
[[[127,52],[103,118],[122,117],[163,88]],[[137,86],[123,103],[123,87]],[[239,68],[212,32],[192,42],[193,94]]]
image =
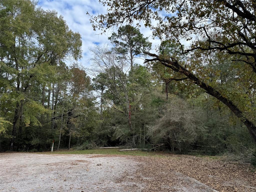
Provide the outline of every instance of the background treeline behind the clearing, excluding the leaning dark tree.
[[30,1],[1,1],[0,19],[1,151],[48,151],[54,140],[54,150],[164,143],[162,149],[178,153],[254,153],[241,119],[162,61],[177,61],[238,100],[255,121],[255,73],[230,54],[183,54],[180,44],[165,40],[158,51],[162,60],[138,65],[135,58],[145,57],[151,43],[124,25],[109,45],[90,48],[92,65],[85,69],[76,62],[80,34],[55,11]]

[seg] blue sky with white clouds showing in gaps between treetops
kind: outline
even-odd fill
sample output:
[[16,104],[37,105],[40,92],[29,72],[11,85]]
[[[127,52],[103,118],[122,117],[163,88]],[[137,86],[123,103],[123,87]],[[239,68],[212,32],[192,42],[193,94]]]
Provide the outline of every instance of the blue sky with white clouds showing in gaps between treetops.
[[[62,15],[66,20],[67,25],[72,31],[79,32],[82,36],[82,59],[78,62],[81,63],[84,67],[90,66],[90,58],[91,53],[88,50],[89,47],[93,47],[95,45],[104,45],[109,44],[108,37],[111,36],[112,31],[108,31],[103,35],[99,34],[100,31],[93,31],[90,17],[86,14],[88,12],[90,15],[97,15],[106,13],[106,7],[101,5],[98,0],[83,0],[83,1],[75,1],[75,0],[39,0],[38,6],[40,6],[44,10],[56,10],[58,12],[58,16]],[[155,47],[160,44],[160,40],[152,38],[152,32],[149,28],[141,27],[141,33],[144,37],[148,37],[149,41],[152,42],[152,50],[151,52],[155,52]],[[116,31],[114,31],[116,32]],[[136,63],[143,64],[144,60],[136,59]],[[68,64],[68,63],[67,63]]]

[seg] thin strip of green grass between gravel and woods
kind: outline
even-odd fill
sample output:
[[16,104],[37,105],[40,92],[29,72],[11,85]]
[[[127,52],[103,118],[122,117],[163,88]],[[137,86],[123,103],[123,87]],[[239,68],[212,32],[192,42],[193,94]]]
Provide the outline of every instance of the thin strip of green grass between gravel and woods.
[[54,152],[41,152],[46,154],[99,154],[99,155],[137,155],[137,156],[159,156],[164,157],[163,153],[148,151],[118,151],[119,149],[91,149],[91,150],[65,150]]

